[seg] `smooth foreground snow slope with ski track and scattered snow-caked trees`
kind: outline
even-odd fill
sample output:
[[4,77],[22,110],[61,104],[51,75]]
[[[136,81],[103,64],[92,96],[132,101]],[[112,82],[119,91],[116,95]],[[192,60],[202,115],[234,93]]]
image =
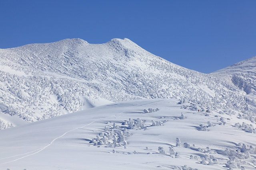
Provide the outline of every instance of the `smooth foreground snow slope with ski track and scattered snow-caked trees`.
[[[178,102],[119,102],[1,130],[0,169],[255,169],[250,121]],[[159,110],[144,113],[148,108]]]

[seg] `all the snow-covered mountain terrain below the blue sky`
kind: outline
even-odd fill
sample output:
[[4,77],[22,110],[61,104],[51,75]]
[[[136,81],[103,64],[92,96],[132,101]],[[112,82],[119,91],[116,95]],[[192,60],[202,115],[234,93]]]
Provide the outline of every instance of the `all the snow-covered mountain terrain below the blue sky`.
[[253,169],[255,66],[204,74],[126,38],[0,49],[0,169]]

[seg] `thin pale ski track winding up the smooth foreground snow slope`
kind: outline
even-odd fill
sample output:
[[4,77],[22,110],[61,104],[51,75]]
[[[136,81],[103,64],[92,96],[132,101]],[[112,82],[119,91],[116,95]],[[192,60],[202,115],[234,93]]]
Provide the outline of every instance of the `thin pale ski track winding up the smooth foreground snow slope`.
[[[164,99],[164,100],[168,100],[168,99]],[[147,105],[147,104],[152,104],[152,103],[156,103],[156,102],[161,102],[161,101],[163,101],[163,100],[159,100],[159,101],[155,101],[155,102],[150,102],[150,103],[146,103],[146,104],[141,104],[141,105],[138,105],[138,106],[134,106],[134,107],[132,107],[132,108],[136,108],[136,107],[139,107],[139,106],[143,106],[143,105]],[[107,118],[110,118],[110,117],[116,117],[116,115],[122,114],[122,113],[124,113],[125,111],[130,110],[130,109],[131,109],[131,108],[126,109],[126,110],[124,110],[124,111],[122,111],[122,112],[120,112],[120,113],[112,114],[111,116],[108,116],[108,117],[102,117],[102,118],[100,118],[100,119],[98,119],[98,120],[107,119]],[[119,116],[119,117],[121,117],[121,116]],[[95,120],[95,121],[98,121],[98,120]],[[77,127],[77,128],[75,128],[75,129],[72,129],[72,130],[70,130],[70,131],[65,132],[63,135],[61,135],[61,136],[56,137],[55,139],[53,139],[52,142],[49,143],[48,145],[46,145],[45,147],[42,147],[42,148],[37,149],[37,150],[33,150],[33,151],[31,151],[31,152],[24,153],[24,154],[29,154],[29,153],[34,152],[34,153],[32,153],[32,154],[23,156],[23,157],[21,157],[21,158],[15,159],[15,160],[11,160],[11,161],[9,161],[9,162],[0,163],[0,165],[1,165],[1,164],[7,164],[7,163],[10,163],[10,162],[14,162],[14,161],[16,161],[16,160],[20,160],[20,159],[22,159],[22,158],[26,158],[26,157],[28,157],[28,156],[31,156],[31,155],[33,155],[33,154],[36,154],[36,153],[38,153],[38,152],[40,152],[40,151],[46,149],[46,148],[49,147],[50,145],[52,145],[52,143],[53,143],[54,141],[56,141],[57,139],[63,137],[63,136],[66,135],[67,133],[69,133],[69,132],[71,132],[71,131],[74,131],[74,130],[76,130],[76,129],[80,129],[80,128],[86,127],[86,126],[88,126],[88,125],[94,123],[95,121],[92,121],[91,123],[88,123],[87,125],[84,125],[84,126],[82,126],[82,127]],[[36,152],[36,151],[37,151],[37,152]],[[14,156],[9,156],[9,157],[6,157],[6,158],[12,158],[12,157],[20,156],[20,155],[24,155],[24,154],[18,154],[18,155],[14,155]],[[1,158],[1,159],[6,159],[6,158]],[[1,160],[1,159],[0,159],[0,160]]]

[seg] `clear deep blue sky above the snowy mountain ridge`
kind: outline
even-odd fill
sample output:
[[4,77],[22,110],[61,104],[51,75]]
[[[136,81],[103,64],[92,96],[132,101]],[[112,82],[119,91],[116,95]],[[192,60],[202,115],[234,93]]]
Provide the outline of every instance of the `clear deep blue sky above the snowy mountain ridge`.
[[256,0],[0,0],[0,48],[128,38],[210,73],[256,56]]

